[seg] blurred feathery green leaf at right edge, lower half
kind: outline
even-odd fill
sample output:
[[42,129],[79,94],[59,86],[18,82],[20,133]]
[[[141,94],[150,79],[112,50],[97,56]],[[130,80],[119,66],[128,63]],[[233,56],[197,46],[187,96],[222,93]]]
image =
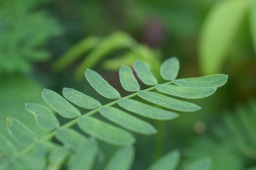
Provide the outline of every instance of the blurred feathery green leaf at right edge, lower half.
[[216,129],[215,134],[244,157],[256,160],[256,101],[250,101],[248,106],[237,106],[233,117],[230,111],[226,112],[223,118],[225,130]]

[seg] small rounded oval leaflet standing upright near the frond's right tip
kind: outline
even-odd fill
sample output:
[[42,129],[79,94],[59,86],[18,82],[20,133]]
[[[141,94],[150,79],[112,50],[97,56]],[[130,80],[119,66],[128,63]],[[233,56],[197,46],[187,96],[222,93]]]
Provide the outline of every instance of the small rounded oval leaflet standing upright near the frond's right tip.
[[176,57],[172,57],[163,62],[160,69],[160,74],[164,80],[174,80],[180,69],[179,60]]

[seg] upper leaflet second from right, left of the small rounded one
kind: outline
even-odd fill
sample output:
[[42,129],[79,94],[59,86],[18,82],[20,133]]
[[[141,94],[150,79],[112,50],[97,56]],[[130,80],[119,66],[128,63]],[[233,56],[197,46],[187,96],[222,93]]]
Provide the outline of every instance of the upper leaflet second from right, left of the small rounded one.
[[143,83],[145,83],[146,85],[157,84],[156,77],[151,73],[148,67],[141,60],[136,60],[133,63],[133,67]]

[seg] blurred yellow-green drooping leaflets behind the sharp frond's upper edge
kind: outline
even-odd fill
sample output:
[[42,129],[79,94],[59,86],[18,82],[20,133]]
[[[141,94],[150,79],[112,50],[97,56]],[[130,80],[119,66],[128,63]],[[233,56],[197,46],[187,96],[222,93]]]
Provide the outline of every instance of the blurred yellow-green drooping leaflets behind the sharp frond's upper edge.
[[[116,54],[115,59],[104,60],[110,54],[113,55],[113,53],[122,50],[124,51],[123,54]],[[54,69],[61,71],[79,57],[84,58],[76,69],[76,76],[79,78],[83,77],[85,69],[96,66],[102,60],[104,60],[102,63],[104,69],[115,71],[123,64],[132,66],[136,59],[146,62],[153,73],[159,77],[160,60],[157,53],[146,45],[140,45],[125,32],[114,32],[107,38],[89,37],[83,39],[55,62]]]

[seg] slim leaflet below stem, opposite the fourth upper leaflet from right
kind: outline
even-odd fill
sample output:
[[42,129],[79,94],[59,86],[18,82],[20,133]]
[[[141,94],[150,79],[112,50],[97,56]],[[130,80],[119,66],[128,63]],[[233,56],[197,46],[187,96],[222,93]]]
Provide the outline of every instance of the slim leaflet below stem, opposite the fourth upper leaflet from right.
[[118,105],[125,110],[132,111],[133,113],[143,117],[152,118],[155,120],[171,120],[179,117],[177,113],[172,111],[162,110],[133,99],[119,99]]

